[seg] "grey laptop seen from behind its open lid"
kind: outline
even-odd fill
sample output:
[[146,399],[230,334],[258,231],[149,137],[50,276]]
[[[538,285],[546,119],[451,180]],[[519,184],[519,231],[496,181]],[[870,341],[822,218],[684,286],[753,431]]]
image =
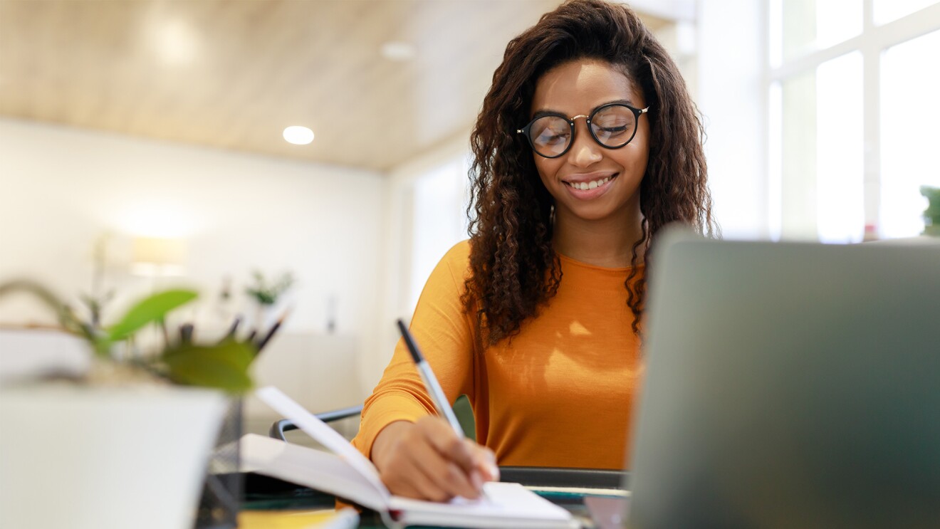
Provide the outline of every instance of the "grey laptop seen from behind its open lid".
[[670,233],[651,268],[614,520],[940,527],[940,243]]

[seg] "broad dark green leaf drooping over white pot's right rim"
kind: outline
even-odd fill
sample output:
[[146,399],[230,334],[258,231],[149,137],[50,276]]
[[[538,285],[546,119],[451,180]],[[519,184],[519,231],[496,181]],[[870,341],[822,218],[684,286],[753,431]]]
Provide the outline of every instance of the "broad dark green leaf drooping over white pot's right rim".
[[248,366],[254,358],[254,348],[227,340],[214,346],[182,345],[164,353],[163,360],[171,381],[243,392],[252,387]]

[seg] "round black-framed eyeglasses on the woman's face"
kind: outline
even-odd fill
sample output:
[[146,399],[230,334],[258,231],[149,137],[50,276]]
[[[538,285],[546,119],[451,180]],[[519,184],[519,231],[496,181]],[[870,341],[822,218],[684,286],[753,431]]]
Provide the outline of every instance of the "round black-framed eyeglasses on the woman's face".
[[649,110],[649,106],[639,109],[629,104],[612,102],[595,108],[590,116],[543,114],[516,132],[525,134],[525,139],[539,156],[557,158],[572,148],[574,120],[587,117],[587,130],[598,145],[603,148],[621,148],[634,139],[640,115]]

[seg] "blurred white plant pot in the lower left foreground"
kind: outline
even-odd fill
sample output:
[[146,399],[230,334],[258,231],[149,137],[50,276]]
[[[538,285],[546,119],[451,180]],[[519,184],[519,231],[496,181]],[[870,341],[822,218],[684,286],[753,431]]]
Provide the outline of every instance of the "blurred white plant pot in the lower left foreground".
[[0,527],[192,529],[225,405],[177,387],[0,391]]

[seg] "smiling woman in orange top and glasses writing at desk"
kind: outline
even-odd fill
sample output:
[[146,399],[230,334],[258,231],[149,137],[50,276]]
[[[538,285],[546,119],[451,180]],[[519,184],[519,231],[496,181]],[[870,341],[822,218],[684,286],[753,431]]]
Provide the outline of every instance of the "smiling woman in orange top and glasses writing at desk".
[[509,42],[471,144],[470,240],[412,332],[477,443],[434,416],[399,343],[353,443],[393,493],[475,498],[503,465],[622,468],[642,372],[645,259],[672,222],[713,232],[702,128],[635,13],[572,0]]

